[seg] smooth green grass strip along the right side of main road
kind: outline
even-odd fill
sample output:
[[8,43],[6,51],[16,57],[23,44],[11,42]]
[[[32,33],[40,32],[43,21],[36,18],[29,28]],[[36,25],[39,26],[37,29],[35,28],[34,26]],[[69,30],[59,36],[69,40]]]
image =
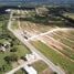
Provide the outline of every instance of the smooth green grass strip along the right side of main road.
[[51,60],[56,65],[65,70],[66,74],[74,74],[74,62],[64,57],[60,53],[55,52],[53,49],[49,47],[40,41],[31,42],[41,53],[43,53],[49,60]]

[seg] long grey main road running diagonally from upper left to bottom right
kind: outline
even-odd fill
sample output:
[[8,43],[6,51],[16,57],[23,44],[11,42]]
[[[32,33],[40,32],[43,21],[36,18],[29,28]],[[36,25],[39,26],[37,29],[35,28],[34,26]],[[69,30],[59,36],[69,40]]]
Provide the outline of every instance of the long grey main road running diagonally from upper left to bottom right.
[[40,53],[33,45],[31,45],[22,35],[20,31],[13,31],[11,29],[11,18],[12,18],[12,12],[10,15],[10,20],[8,23],[8,29],[24,44],[27,45],[31,52],[33,52],[34,54],[39,55],[42,61],[44,61],[54,72],[56,72],[57,74],[65,74],[65,72],[60,68],[59,66],[56,66],[55,64],[53,64],[50,60],[47,60],[42,53]]

